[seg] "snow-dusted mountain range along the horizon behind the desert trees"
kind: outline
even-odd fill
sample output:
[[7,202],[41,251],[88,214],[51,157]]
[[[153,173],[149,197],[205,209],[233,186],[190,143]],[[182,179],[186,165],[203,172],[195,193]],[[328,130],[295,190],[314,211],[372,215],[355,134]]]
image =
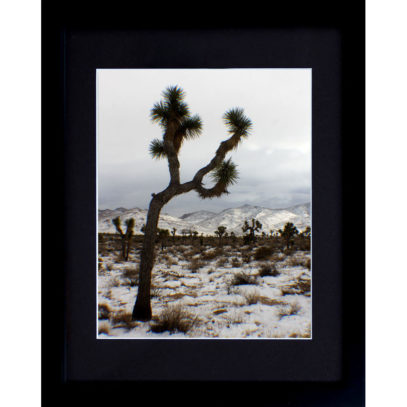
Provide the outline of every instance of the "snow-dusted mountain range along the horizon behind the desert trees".
[[[120,216],[123,223],[128,218],[134,218],[135,231],[140,233],[140,229],[146,221],[147,210],[139,208],[99,210],[98,232],[114,233],[115,227],[112,219],[117,216]],[[226,226],[228,233],[234,232],[236,235],[242,235],[244,221],[250,221],[252,218],[257,219],[263,225],[262,231],[266,233],[269,233],[271,229],[282,228],[287,222],[292,222],[299,230],[303,230],[307,226],[311,226],[310,204],[300,204],[284,209],[243,205],[238,208],[225,209],[219,213],[203,210],[186,213],[180,217],[161,213],[158,226],[169,230],[176,228],[177,235],[181,234],[183,229],[213,235],[218,226]]]

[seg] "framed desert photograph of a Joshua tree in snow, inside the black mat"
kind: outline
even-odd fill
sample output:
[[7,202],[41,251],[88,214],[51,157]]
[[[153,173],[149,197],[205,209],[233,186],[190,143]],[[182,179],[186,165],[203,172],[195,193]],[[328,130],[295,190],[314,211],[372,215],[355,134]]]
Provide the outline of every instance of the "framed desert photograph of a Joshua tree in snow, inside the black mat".
[[96,338],[312,339],[312,69],[96,70]]

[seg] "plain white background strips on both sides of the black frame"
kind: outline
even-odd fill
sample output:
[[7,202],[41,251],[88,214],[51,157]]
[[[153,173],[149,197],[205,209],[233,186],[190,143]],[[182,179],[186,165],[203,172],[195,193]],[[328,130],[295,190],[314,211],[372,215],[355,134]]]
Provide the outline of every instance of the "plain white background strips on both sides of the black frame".
[[[406,15],[405,1],[367,1],[368,407],[407,404]],[[40,405],[40,2],[2,2],[0,30],[0,405],[36,407]],[[22,255],[15,242],[20,241],[23,221],[30,239]]]

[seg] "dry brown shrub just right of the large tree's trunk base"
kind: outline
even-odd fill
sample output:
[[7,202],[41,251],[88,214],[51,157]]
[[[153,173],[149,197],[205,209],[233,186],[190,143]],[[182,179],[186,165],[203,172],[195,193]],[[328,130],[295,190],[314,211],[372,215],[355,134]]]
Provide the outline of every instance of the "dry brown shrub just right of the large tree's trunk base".
[[196,324],[196,321],[197,319],[185,311],[180,304],[169,305],[151,324],[151,330],[155,333],[164,331],[186,333]]

